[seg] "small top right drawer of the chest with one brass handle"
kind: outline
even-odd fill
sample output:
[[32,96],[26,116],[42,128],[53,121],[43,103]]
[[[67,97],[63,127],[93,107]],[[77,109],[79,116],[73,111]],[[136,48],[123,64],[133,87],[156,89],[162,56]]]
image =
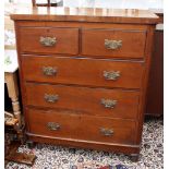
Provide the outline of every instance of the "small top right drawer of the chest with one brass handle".
[[82,55],[100,58],[143,58],[146,32],[83,29]]

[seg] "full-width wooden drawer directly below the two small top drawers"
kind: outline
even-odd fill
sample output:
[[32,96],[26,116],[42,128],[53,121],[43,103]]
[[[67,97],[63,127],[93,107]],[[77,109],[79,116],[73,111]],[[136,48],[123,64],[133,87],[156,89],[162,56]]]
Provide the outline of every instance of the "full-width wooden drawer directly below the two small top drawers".
[[23,56],[26,81],[140,88],[144,62]]

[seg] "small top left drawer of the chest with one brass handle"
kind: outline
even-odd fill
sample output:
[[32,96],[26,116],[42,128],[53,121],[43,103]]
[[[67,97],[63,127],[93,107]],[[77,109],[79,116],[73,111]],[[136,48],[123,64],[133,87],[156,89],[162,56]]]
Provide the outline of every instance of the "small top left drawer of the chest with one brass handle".
[[22,27],[19,31],[21,52],[79,53],[79,29]]

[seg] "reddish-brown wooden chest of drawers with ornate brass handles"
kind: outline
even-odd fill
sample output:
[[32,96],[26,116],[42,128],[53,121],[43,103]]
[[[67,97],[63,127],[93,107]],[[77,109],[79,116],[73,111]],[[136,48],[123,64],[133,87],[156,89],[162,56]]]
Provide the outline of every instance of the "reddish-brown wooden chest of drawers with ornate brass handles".
[[11,17],[29,140],[137,157],[158,17],[67,8]]

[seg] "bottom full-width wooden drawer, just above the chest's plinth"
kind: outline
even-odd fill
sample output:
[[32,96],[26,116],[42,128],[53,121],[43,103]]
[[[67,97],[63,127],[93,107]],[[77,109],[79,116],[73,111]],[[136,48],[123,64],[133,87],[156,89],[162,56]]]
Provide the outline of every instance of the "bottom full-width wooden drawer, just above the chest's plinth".
[[133,144],[136,136],[136,123],[131,120],[34,109],[26,117],[29,132],[38,135],[119,144]]

